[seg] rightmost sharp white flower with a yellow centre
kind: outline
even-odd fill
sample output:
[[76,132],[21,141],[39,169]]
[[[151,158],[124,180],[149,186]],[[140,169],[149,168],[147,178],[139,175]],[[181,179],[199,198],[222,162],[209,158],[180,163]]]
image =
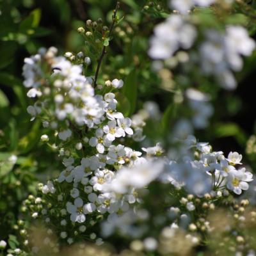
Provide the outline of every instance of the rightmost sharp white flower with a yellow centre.
[[240,195],[242,190],[247,190],[249,188],[247,182],[253,180],[252,176],[252,173],[246,172],[245,168],[237,171],[230,171],[227,177],[227,188],[232,190],[237,195]]

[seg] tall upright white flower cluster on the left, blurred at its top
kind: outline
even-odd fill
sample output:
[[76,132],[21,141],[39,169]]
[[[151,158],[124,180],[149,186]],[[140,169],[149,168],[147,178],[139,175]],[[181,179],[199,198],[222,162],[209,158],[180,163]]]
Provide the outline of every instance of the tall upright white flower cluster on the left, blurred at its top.
[[[117,196],[104,186],[115,179],[115,172],[122,166],[134,168],[147,159],[141,157],[141,152],[120,143],[125,137],[132,138],[132,121],[116,110],[115,93],[95,95],[93,79],[83,76],[81,65],[56,57],[54,48],[42,49],[25,60],[24,77],[24,85],[32,87],[28,97],[38,99],[28,112],[33,118],[41,118],[44,127],[53,130],[53,138],[58,139],[54,148],[60,151],[65,168],[58,179],[49,180],[40,190],[57,201],[55,206],[62,218],[56,225],[61,227],[61,238],[71,243],[66,230],[68,221],[77,223],[76,232],[83,233],[86,230],[83,223],[94,225],[99,216],[129,211],[129,204],[136,201],[134,189]],[[116,89],[123,82],[114,79],[111,84]],[[44,134],[42,140],[51,142],[51,132],[49,136]],[[74,149],[78,155],[72,154]],[[146,177],[147,173],[144,176],[141,173],[142,180]],[[134,182],[136,179],[134,176]],[[49,223],[55,210],[44,208],[40,213]],[[32,216],[37,218],[38,212]]]

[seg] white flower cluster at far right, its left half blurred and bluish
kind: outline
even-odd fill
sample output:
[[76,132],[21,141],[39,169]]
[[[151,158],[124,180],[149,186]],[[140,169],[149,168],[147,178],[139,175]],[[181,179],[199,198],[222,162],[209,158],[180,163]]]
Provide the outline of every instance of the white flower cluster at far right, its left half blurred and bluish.
[[[197,143],[194,136],[188,136],[184,141],[188,152],[186,157],[171,161],[168,173],[173,184],[184,186],[188,193],[204,195],[212,191],[230,190],[237,195],[248,189],[252,173],[241,165],[242,156],[237,152],[230,152],[228,157],[223,152],[212,152],[208,143]],[[182,149],[184,152],[184,149]]]

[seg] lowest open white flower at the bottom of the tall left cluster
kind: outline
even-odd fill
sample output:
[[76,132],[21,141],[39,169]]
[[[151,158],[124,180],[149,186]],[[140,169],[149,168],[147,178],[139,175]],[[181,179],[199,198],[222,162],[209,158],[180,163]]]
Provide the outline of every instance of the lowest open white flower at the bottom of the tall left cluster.
[[86,220],[83,212],[83,200],[78,197],[74,200],[74,204],[67,202],[67,211],[70,213],[70,220],[78,223],[83,223]]

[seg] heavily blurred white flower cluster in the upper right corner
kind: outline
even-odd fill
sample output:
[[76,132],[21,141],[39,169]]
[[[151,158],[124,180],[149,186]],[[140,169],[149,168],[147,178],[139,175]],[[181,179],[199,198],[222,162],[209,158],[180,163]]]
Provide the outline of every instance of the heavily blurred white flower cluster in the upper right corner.
[[[198,4],[205,6],[214,1],[172,1],[172,6],[180,4],[180,12],[184,12]],[[198,3],[197,3],[198,2]],[[182,10],[181,10],[182,9]],[[255,42],[242,26],[226,25],[224,31],[215,28],[202,33],[204,38],[196,51],[191,51],[189,60],[200,65],[202,72],[216,78],[218,84],[228,90],[236,88],[237,83],[232,71],[241,71],[243,58],[250,56],[255,49]],[[170,60],[175,52],[191,48],[197,39],[201,40],[200,29],[196,29],[193,15],[171,14],[163,23],[154,29],[150,40],[148,54],[157,60]]]

